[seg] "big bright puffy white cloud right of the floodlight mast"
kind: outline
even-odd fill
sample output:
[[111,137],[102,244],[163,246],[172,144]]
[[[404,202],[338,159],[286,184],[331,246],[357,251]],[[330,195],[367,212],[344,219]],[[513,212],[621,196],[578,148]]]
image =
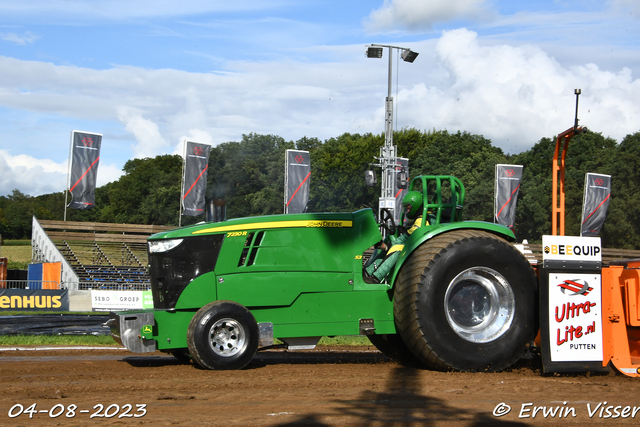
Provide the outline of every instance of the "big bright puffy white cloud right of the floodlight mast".
[[436,49],[449,77],[402,94],[417,107],[404,110],[414,123],[428,117],[436,129],[483,134],[517,153],[573,125],[573,91],[581,88],[581,124],[618,141],[640,130],[640,80],[629,69],[565,68],[537,47],[483,46],[465,29],[445,32]]

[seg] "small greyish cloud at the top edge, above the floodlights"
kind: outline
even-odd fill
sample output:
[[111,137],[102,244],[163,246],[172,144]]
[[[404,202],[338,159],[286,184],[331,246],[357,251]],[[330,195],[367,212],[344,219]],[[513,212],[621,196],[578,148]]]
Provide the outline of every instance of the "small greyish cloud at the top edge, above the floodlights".
[[365,28],[371,32],[429,30],[434,24],[457,19],[478,20],[490,10],[486,0],[384,0],[371,12]]

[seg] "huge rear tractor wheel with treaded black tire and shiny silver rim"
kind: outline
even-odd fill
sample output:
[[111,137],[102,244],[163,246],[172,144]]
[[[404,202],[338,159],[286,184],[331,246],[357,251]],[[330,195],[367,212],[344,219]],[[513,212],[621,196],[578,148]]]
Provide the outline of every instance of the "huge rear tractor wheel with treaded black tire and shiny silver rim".
[[450,231],[418,247],[394,289],[396,329],[427,367],[497,371],[537,328],[537,280],[526,258],[481,230]]

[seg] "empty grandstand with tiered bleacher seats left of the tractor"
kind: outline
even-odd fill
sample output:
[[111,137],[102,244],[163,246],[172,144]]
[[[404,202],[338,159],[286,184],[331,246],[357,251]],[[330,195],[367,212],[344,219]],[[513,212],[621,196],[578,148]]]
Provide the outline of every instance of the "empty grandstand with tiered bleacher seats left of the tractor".
[[[174,228],[47,220],[38,223],[75,272],[78,283],[73,287],[77,290],[149,289],[147,237]],[[38,248],[33,240],[35,254]]]

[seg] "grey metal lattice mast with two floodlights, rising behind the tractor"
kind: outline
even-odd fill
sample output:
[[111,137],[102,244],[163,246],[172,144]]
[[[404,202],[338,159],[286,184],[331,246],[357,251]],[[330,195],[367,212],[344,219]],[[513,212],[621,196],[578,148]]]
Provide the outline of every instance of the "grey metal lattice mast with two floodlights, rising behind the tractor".
[[[409,48],[389,46],[382,44],[371,44],[367,46],[367,58],[382,58],[383,48],[389,48],[389,84],[387,98],[385,100],[385,126],[384,126],[384,145],[380,147],[380,156],[376,157],[379,161],[377,166],[382,168],[382,183],[380,185],[380,201],[378,210],[382,208],[395,210],[396,202],[393,194],[393,177],[395,176],[395,168],[398,164],[397,147],[393,145],[393,97],[391,96],[391,75],[393,68],[393,49],[401,50],[400,56],[405,62],[413,62],[418,57],[418,53]],[[394,215],[399,218],[399,215]]]

